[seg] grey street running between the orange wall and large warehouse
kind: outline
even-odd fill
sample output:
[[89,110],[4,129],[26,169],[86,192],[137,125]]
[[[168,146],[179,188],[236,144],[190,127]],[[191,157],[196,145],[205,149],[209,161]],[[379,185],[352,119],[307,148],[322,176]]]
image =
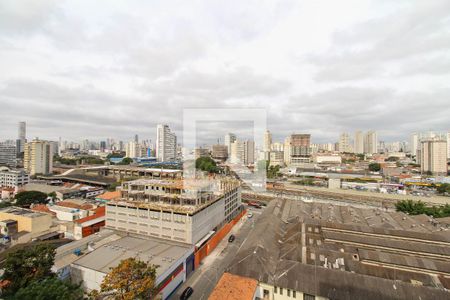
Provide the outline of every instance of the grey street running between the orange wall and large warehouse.
[[[254,228],[255,222],[261,215],[264,208],[247,208],[253,213],[252,218],[242,217],[231,232],[217,245],[216,249],[208,255],[183,283],[177,291],[169,298],[170,300],[180,299],[181,293],[188,286],[194,289],[191,299],[206,300],[216,286],[225,269],[230,265],[240,247],[245,243],[247,236]],[[228,237],[234,234],[236,239],[229,243]]]

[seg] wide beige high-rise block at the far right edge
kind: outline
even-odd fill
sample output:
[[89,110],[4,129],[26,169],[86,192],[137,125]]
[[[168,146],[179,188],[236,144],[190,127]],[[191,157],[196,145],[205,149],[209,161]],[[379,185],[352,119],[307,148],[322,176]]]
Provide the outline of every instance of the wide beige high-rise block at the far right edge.
[[433,175],[447,175],[447,141],[424,139],[420,143],[420,170]]

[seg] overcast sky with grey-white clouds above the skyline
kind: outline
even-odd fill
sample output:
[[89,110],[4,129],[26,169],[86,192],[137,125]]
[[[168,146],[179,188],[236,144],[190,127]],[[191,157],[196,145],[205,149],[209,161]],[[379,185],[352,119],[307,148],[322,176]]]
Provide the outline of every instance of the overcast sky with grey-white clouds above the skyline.
[[185,108],[406,140],[450,129],[450,1],[2,0],[0,70],[0,140],[181,135]]

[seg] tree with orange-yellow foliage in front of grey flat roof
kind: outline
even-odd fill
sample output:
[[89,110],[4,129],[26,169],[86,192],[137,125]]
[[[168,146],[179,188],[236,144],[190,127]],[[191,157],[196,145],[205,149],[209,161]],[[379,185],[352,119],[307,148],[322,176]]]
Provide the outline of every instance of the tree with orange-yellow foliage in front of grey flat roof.
[[158,266],[130,257],[112,268],[101,284],[101,292],[113,292],[115,299],[152,299]]

